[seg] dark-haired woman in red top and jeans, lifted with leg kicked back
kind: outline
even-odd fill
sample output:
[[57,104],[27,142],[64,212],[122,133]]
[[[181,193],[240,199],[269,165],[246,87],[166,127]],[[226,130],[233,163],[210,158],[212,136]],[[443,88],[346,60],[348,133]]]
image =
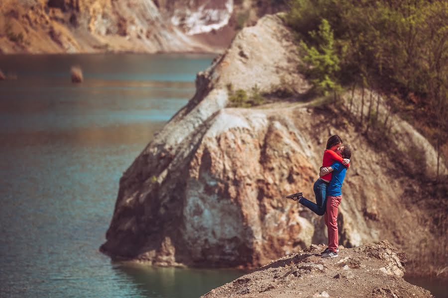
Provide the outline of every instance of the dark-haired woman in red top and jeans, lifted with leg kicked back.
[[[349,167],[350,160],[347,158],[342,158],[340,152],[337,149],[342,145],[342,140],[338,135],[331,136],[327,141],[327,149],[324,151],[324,158],[322,161],[323,167],[331,166],[335,161],[341,162],[347,168]],[[303,206],[309,208],[311,211],[319,216],[325,214],[327,207],[327,186],[332,180],[332,173],[328,173],[325,176],[320,177],[313,186],[314,194],[316,195],[316,204],[305,199],[302,193],[297,193],[292,196],[288,196],[295,201],[298,201]]]

